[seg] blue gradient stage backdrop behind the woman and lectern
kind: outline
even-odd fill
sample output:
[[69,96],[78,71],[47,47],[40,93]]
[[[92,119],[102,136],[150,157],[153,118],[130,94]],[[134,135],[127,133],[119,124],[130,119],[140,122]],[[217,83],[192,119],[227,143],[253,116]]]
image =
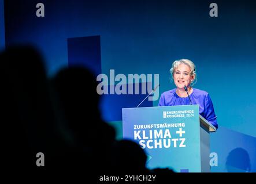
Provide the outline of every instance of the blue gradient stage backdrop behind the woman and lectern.
[[[219,161],[212,171],[256,171],[256,2],[214,1],[218,17],[210,17],[208,0],[43,0],[45,17],[37,17],[38,2],[5,1],[6,46],[35,45],[49,76],[77,55],[91,59],[86,62],[96,73],[159,74],[160,93],[175,87],[169,74],[172,62],[190,59],[198,74],[194,87],[209,92],[220,127],[211,136],[211,151]],[[3,45],[1,14],[0,24]],[[93,53],[84,52],[87,41],[94,43]],[[116,127],[118,138],[121,108],[141,99],[124,95],[102,101],[103,118]],[[158,100],[145,103],[157,106]]]

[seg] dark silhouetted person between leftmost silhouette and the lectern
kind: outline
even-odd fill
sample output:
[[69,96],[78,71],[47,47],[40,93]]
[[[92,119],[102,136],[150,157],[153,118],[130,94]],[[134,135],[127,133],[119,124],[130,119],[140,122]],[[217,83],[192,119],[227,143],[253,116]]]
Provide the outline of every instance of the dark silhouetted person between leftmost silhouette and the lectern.
[[71,137],[71,149],[77,150],[69,157],[71,163],[86,164],[90,173],[105,171],[116,132],[101,119],[96,77],[86,68],[69,67],[59,71],[51,83],[66,120],[64,129]]

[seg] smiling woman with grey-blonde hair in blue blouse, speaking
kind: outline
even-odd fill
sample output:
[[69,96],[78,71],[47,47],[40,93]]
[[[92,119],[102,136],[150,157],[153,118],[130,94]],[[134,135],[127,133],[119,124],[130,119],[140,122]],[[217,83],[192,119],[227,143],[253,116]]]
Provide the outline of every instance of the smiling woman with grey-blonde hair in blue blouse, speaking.
[[212,99],[206,91],[192,87],[196,82],[195,64],[188,59],[176,60],[170,68],[170,74],[176,89],[162,93],[158,106],[199,105],[201,116],[217,129]]

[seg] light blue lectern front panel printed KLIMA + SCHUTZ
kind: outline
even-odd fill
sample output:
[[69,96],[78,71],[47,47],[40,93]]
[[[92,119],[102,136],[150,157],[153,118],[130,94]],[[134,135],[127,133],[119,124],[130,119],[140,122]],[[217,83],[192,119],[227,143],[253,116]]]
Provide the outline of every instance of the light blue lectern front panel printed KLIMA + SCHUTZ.
[[[194,110],[194,112],[181,114],[181,117],[177,114],[176,117],[168,117],[174,114],[166,114],[166,112],[179,110]],[[151,158],[147,162],[148,168],[169,167],[177,172],[186,169],[189,172],[201,172],[198,114],[198,105],[123,109],[123,137],[139,143],[144,148]],[[183,124],[184,127],[172,127],[172,124]],[[145,127],[138,128],[139,125]],[[165,127],[165,125],[170,125],[170,127]],[[135,129],[135,127],[137,128]],[[185,131],[183,135],[177,132],[180,128]],[[154,131],[158,133],[162,131],[163,137],[155,137]],[[168,132],[170,132],[171,138],[164,136]],[[185,138],[185,147],[180,147],[180,139],[183,138]],[[174,139],[179,139],[176,147]],[[168,141],[170,141],[170,144],[167,144]]]

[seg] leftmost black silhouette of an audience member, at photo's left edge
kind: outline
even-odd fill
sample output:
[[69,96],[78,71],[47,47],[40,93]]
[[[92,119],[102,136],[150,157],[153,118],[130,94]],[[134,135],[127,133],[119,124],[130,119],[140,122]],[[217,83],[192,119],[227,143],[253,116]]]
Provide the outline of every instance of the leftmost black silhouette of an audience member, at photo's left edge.
[[35,48],[22,45],[6,48],[0,60],[2,164],[19,171],[39,168],[36,154],[42,152],[51,160],[60,145],[42,57]]

